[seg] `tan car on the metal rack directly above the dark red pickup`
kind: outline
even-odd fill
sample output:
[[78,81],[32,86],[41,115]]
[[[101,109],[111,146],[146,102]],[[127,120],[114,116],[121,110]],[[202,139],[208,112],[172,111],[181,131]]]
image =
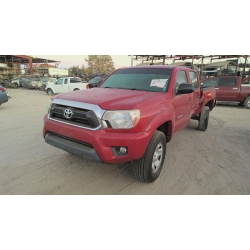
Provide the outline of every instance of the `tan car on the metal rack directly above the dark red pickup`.
[[236,75],[241,74],[241,69],[238,67],[236,71],[236,63],[232,61],[214,62],[203,68],[201,74],[206,76],[220,76],[220,75]]

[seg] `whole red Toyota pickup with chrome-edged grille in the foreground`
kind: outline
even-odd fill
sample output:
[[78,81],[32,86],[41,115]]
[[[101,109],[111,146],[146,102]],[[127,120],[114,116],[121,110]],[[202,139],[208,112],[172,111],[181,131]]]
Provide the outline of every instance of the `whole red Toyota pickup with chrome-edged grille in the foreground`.
[[197,72],[186,67],[121,68],[97,88],[52,97],[43,136],[89,160],[132,161],[135,177],[153,182],[174,134],[191,118],[207,129],[215,95],[214,88],[200,88]]

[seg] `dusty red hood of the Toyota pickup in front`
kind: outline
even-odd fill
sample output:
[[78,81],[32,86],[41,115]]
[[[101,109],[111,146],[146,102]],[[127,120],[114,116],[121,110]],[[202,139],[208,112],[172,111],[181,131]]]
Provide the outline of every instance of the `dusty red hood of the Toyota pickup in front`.
[[53,99],[96,104],[105,110],[130,110],[136,105],[164,95],[160,92],[93,88],[56,95]]

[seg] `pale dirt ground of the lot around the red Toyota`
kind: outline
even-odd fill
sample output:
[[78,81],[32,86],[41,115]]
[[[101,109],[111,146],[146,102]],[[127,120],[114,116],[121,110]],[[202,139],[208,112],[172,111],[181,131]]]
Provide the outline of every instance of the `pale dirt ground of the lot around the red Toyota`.
[[0,106],[0,194],[250,194],[250,110],[217,105],[167,145],[161,176],[134,179],[130,164],[99,164],[44,142],[45,92],[9,89]]

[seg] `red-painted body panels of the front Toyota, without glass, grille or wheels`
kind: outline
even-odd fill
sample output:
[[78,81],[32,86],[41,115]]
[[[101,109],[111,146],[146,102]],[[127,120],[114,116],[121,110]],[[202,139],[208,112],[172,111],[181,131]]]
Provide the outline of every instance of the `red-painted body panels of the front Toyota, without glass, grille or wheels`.
[[[167,141],[170,141],[172,135],[186,127],[191,117],[199,115],[202,108],[209,101],[211,101],[210,108],[213,109],[215,105],[215,90],[211,88],[201,91],[200,83],[198,83],[198,88],[195,92],[176,96],[174,94],[174,85],[178,71],[186,71],[188,83],[190,83],[188,72],[193,70],[186,67],[166,67],[161,65],[157,67],[173,70],[168,92],[104,89],[99,88],[99,85],[98,88],[60,94],[54,97],[54,99],[96,104],[104,110],[139,109],[141,117],[136,127],[120,130],[107,128],[92,131],[51,121],[46,115],[44,118],[43,136],[45,136],[47,131],[51,131],[90,143],[94,146],[101,160],[107,163],[127,162],[141,158],[155,130],[165,122],[169,122]],[[127,147],[128,155],[114,156],[110,148],[111,146]]]

